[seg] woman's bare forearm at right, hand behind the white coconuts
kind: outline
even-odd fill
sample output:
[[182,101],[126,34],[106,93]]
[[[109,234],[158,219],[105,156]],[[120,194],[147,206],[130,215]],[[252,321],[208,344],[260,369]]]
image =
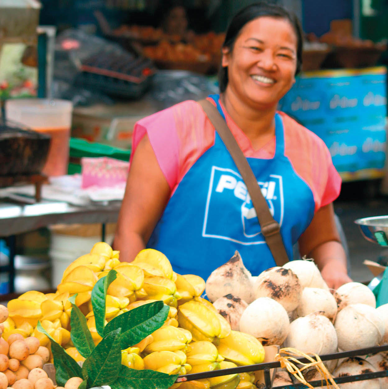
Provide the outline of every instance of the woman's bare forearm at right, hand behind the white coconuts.
[[334,219],[333,204],[320,208],[299,238],[301,256],[313,258],[330,289],[350,282],[346,254]]

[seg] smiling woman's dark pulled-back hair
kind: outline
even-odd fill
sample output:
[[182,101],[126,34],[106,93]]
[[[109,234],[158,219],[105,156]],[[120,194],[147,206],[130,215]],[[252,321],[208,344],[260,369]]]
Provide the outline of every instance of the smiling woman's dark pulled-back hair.
[[[250,21],[260,18],[262,16],[272,16],[274,18],[287,19],[294,27],[297,37],[297,62],[296,72],[297,75],[302,68],[302,48],[303,48],[303,32],[301,24],[293,12],[287,11],[285,8],[279,5],[268,4],[266,2],[258,2],[255,4],[248,5],[241,9],[229,23],[226,31],[224,44],[222,47],[228,47],[230,51],[233,50],[234,42],[241,31],[241,29]],[[228,68],[220,66],[218,72],[218,83],[220,86],[220,92],[225,92],[228,84]]]

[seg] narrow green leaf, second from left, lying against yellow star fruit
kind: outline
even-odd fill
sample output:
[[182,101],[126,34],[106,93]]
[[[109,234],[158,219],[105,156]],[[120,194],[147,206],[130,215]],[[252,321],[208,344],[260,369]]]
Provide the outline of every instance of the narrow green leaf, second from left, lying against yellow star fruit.
[[77,305],[75,305],[76,297],[77,293],[68,299],[73,306],[72,314],[70,316],[70,326],[72,328],[70,331],[70,338],[72,339],[72,342],[79,353],[84,358],[87,358],[94,350],[95,345],[92,335],[86,324],[86,317],[77,307]]

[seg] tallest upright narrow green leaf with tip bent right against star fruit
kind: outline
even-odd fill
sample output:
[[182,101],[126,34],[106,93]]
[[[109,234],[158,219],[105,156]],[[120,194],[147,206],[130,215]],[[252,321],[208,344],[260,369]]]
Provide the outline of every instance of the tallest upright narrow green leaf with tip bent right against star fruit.
[[110,272],[101,277],[92,289],[92,307],[94,318],[96,319],[96,330],[98,335],[103,336],[105,327],[105,299],[107,297],[107,291],[109,285],[116,279],[116,270],[110,270]]

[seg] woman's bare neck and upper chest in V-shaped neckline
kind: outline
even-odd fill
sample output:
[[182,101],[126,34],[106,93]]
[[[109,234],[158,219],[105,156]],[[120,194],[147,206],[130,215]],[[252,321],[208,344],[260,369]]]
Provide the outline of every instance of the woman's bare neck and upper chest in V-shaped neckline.
[[276,106],[254,108],[242,102],[230,88],[227,88],[220,98],[229,116],[249,138],[255,149],[275,135]]

